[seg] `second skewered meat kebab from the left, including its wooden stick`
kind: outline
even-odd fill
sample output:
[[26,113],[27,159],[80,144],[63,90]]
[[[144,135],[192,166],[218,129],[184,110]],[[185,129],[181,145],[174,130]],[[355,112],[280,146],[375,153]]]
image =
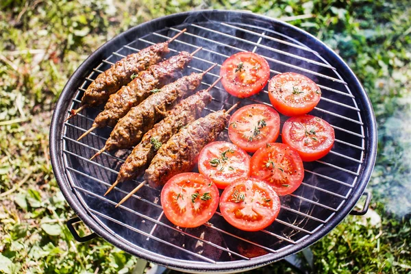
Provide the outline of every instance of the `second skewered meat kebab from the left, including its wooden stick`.
[[[194,53],[195,54],[197,50]],[[92,127],[77,140],[92,132],[97,127],[106,125],[114,127],[131,108],[141,103],[153,92],[157,92],[165,84],[173,82],[179,76],[179,72],[192,60],[192,55],[182,51],[164,62],[150,66],[147,71],[142,71],[127,86],[110,95],[104,110],[97,115]]]

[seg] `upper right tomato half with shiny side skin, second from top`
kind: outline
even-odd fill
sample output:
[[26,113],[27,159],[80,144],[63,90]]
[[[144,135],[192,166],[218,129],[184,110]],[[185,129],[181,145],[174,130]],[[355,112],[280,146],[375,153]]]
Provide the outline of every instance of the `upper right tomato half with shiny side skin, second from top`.
[[321,90],[312,80],[297,73],[271,78],[269,97],[273,107],[286,116],[307,114],[319,103]]

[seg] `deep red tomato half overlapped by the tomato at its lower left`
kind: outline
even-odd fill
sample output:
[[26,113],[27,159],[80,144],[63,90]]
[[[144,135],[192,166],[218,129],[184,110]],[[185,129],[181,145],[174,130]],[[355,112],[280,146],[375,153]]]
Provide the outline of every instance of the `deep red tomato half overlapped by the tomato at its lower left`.
[[262,179],[278,195],[287,195],[303,182],[304,166],[295,149],[271,142],[251,157],[251,177]]

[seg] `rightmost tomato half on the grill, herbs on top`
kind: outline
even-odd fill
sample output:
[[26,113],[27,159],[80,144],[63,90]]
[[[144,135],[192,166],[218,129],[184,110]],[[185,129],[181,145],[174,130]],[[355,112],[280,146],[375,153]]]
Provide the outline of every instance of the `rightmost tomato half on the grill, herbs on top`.
[[323,158],[334,145],[334,129],[323,119],[303,115],[284,123],[282,142],[297,150],[301,159],[311,162]]

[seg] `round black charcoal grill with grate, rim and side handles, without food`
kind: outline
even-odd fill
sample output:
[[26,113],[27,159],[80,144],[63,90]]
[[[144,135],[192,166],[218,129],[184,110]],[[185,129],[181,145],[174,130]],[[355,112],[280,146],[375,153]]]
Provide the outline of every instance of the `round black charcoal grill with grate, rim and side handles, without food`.
[[[72,109],[79,107],[84,90],[99,73],[130,53],[164,42],[179,30],[182,36],[171,42],[171,55],[195,51],[185,74],[219,65],[239,51],[253,51],[269,62],[271,77],[295,72],[319,84],[323,95],[311,114],[328,121],[335,129],[332,151],[315,162],[305,162],[303,184],[292,195],[281,197],[282,208],[274,223],[260,232],[242,232],[228,225],[216,214],[196,229],[179,229],[163,216],[160,190],[144,186],[123,206],[114,208],[138,178],[119,184],[103,196],[116,179],[119,167],[129,151],[103,153],[88,160],[103,147],[112,128],[97,129],[81,142],[76,139],[86,131],[101,111],[82,110],[64,122]],[[220,66],[203,78],[207,88],[219,75]],[[240,101],[270,105],[267,87],[248,99],[232,97],[221,84],[211,91],[213,101],[203,115],[228,109]],[[282,116],[282,123],[287,117]],[[281,260],[312,245],[325,236],[351,211],[364,192],[373,170],[377,132],[373,109],[360,82],[334,51],[307,32],[292,25],[248,12],[198,11],[173,14],[149,21],[117,36],[75,71],[66,84],[51,123],[51,159],[64,197],[92,231],[113,245],[140,258],[182,271],[236,272]],[[221,140],[228,140],[227,131]],[[281,136],[277,142],[281,142]],[[71,221],[68,225],[75,234]],[[92,235],[94,236],[94,235]],[[92,238],[88,236],[78,240]]]

